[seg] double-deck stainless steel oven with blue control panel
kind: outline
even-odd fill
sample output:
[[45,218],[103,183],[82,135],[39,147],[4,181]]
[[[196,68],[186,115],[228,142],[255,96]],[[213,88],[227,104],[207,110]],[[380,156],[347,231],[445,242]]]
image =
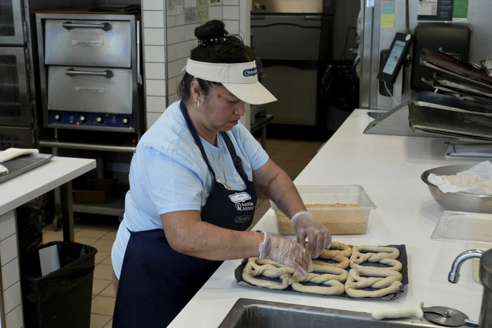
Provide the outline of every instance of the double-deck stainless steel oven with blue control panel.
[[143,130],[140,16],[37,13],[45,127]]

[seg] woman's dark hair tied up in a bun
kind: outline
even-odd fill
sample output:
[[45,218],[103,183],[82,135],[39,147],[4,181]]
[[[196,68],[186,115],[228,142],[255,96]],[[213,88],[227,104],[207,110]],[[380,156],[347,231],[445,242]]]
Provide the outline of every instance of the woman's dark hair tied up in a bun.
[[[191,59],[206,63],[247,63],[255,60],[255,55],[250,47],[242,42],[239,35],[228,35],[226,26],[217,19],[200,25],[195,29],[195,36],[199,45],[191,50]],[[225,40],[224,40],[225,38]],[[217,39],[217,42],[207,42]],[[212,86],[221,86],[221,83],[196,78],[201,90],[207,96]],[[193,76],[185,73],[178,84],[178,95],[183,101],[190,98],[190,86]]]

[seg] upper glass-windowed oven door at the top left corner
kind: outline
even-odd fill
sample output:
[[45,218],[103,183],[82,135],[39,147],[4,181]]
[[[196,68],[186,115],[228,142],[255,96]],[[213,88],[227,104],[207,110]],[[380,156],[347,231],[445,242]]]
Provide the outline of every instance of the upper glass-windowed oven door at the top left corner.
[[0,0],[0,44],[24,44],[20,0]]

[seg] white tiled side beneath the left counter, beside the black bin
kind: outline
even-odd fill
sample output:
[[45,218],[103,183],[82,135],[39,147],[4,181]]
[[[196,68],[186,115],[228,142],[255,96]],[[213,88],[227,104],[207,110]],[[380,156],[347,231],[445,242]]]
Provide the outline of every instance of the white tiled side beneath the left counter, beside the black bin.
[[0,216],[0,265],[2,267],[2,293],[0,294],[2,302],[0,305],[3,303],[0,314],[5,315],[6,328],[23,327],[14,211]]

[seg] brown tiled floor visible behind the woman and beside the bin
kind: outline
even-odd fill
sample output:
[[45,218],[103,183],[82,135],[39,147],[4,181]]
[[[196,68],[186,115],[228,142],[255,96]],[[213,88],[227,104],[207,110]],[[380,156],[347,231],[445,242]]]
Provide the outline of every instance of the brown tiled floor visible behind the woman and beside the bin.
[[[270,158],[294,179],[314,157],[322,142],[267,140],[267,153]],[[269,200],[258,194],[254,224],[270,209]],[[78,218],[78,219],[77,219]],[[96,267],[92,285],[91,328],[111,327],[114,310],[114,293],[111,284],[111,247],[116,237],[117,220],[101,217],[95,220],[87,215],[76,215],[75,241],[97,248]],[[43,241],[62,240],[61,231],[53,231],[51,225],[43,229]]]

